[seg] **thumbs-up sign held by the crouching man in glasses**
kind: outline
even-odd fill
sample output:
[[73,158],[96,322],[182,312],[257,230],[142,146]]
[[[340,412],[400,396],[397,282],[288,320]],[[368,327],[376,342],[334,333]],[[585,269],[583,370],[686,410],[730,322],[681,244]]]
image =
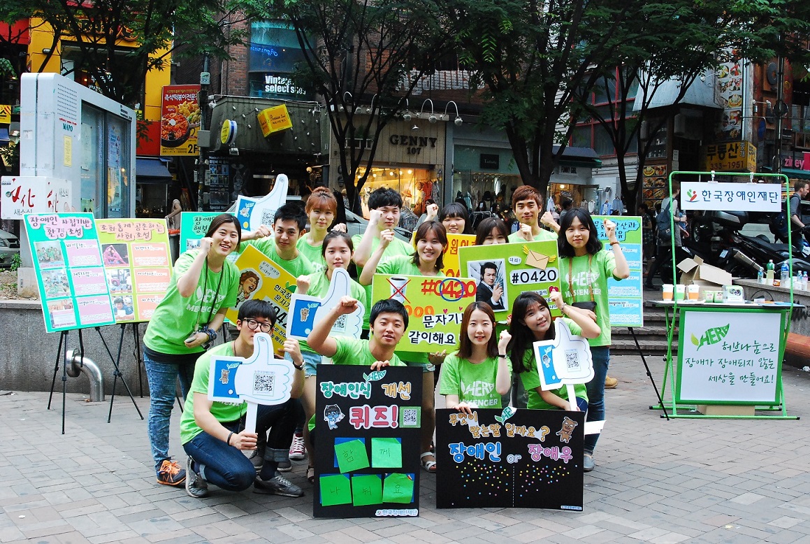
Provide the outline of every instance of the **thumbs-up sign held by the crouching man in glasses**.
[[256,407],[280,405],[292,393],[292,362],[273,356],[273,343],[266,332],[254,336],[249,358],[211,358],[208,399],[215,402],[247,401],[245,429],[256,432]]

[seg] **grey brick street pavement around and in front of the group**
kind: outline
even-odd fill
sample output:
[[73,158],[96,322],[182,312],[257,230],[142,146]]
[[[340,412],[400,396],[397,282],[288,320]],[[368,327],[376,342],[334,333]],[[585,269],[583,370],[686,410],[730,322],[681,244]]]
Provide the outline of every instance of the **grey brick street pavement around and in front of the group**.
[[[660,382],[663,362],[649,363]],[[439,510],[436,478],[423,472],[420,516],[379,520],[313,519],[304,461],[289,473],[304,498],[212,488],[192,499],[156,484],[146,422],[126,396],[110,424],[109,403],[68,396],[61,435],[61,397],[48,411],[47,393],[0,392],[0,542],[810,543],[810,373],[782,374],[799,421],[667,422],[649,409],[640,358],[613,358],[610,375],[620,383],[606,392],[584,512]],[[147,413],[148,399],[137,401]],[[185,463],[178,414],[172,453]]]

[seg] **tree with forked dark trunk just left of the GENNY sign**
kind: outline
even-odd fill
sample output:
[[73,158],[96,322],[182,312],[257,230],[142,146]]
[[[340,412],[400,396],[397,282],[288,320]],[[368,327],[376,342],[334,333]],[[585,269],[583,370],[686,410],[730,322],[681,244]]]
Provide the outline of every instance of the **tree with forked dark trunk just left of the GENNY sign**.
[[360,189],[382,129],[406,109],[407,97],[449,42],[439,6],[434,0],[249,4],[252,18],[281,19],[295,30],[305,62],[292,79],[326,102],[347,197],[360,212]]

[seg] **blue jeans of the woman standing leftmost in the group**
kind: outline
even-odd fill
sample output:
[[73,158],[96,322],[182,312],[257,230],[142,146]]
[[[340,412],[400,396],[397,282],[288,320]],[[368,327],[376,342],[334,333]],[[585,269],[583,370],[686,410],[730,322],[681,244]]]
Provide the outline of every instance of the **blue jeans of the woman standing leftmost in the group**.
[[177,391],[177,378],[180,379],[181,401],[185,401],[194,379],[194,362],[201,353],[184,356],[182,363],[162,362],[156,360],[159,353],[152,352],[151,358],[143,353],[143,366],[147,369],[149,382],[149,445],[152,459],[155,460],[155,472],[160,464],[169,458],[168,455],[168,421],[172,415],[174,396]]

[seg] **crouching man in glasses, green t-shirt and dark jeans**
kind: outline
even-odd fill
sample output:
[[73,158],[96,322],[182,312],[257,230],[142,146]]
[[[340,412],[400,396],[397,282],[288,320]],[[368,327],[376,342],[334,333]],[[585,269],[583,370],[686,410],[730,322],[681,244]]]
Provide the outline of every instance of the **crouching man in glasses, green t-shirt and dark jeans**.
[[[275,311],[269,302],[245,301],[239,307],[237,339],[203,353],[194,366],[194,381],[190,394],[185,397],[180,421],[181,442],[189,455],[185,492],[192,497],[206,497],[209,482],[228,491],[241,491],[253,485],[255,493],[285,497],[304,495],[301,487],[278,471],[279,461],[287,459],[296,427],[295,402],[304,389],[304,358],[298,341],[285,341],[283,348],[296,367],[292,397],[281,405],[259,405],[256,432],[245,430],[246,402],[208,400],[211,357],[249,358],[254,353],[254,335],[260,331],[271,332],[274,323]],[[242,451],[255,450],[259,435],[266,435],[267,445],[264,464],[257,476],[253,463]]]

